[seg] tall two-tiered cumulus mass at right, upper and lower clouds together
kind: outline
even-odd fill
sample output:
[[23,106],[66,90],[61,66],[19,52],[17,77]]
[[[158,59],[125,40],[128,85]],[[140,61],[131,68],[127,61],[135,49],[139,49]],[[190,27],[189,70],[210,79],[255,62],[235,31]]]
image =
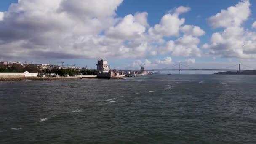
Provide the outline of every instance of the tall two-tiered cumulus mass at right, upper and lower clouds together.
[[[222,57],[256,58],[256,32],[245,30],[241,24],[250,15],[248,0],[222,10],[209,20],[213,27],[225,27],[211,36],[210,54]],[[221,19],[220,19],[221,18]]]

